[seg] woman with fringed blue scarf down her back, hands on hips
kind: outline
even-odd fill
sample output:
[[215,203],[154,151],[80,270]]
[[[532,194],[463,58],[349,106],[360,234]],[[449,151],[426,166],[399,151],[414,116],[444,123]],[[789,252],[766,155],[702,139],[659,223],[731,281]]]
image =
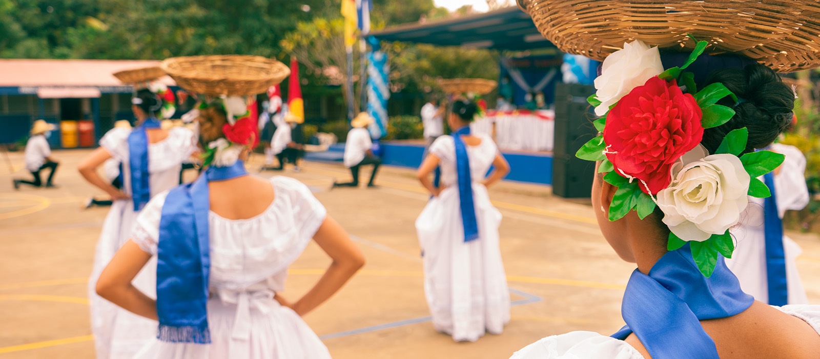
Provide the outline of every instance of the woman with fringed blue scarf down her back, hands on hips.
[[[139,358],[329,358],[299,316],[341,289],[364,264],[362,252],[307,186],[248,175],[243,161],[256,147],[257,124],[244,117],[227,125],[219,101],[200,107],[210,166],[193,184],[148,203],[97,291],[159,320],[158,340]],[[289,302],[278,293],[311,239],[333,262],[313,289]],[[157,271],[156,301],[130,285],[152,257],[158,265],[146,270]]]

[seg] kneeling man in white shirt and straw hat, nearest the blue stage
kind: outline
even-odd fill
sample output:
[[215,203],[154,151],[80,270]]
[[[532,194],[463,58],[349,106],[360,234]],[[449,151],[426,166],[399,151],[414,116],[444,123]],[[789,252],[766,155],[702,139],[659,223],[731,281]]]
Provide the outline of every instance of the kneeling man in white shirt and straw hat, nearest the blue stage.
[[373,174],[370,175],[367,187],[376,187],[373,181],[376,179],[381,160],[373,154],[373,141],[370,139],[370,131],[367,130],[367,125],[370,125],[372,120],[370,115],[362,112],[350,121],[353,130],[348,132],[348,139],[344,143],[344,166],[350,169],[353,181],[334,183],[333,187],[358,187],[359,168],[367,165],[373,165]]

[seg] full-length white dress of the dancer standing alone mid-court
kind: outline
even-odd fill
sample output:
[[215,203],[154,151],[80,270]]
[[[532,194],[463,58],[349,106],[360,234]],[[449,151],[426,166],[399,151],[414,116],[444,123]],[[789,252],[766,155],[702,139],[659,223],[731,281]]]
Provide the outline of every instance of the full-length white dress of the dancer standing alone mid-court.
[[439,197],[431,198],[416,220],[424,260],[424,291],[435,329],[456,341],[475,341],[486,332],[501,334],[510,319],[510,297],[499,249],[501,213],[490,203],[480,182],[498,148],[489,136],[467,146],[478,239],[464,242],[453,137],[441,136],[430,145],[440,158]]

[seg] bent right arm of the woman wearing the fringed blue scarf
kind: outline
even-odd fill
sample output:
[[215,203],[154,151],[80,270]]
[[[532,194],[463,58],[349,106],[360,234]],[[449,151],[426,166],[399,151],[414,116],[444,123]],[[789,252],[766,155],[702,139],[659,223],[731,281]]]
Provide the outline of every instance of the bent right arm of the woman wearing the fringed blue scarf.
[[359,268],[364,266],[362,251],[353,243],[342,226],[330,216],[322,222],[313,240],[330,256],[333,262],[313,288],[292,306],[284,298],[276,296],[277,301],[286,307],[293,308],[299,316],[304,316],[319,307],[321,303],[338,292]]

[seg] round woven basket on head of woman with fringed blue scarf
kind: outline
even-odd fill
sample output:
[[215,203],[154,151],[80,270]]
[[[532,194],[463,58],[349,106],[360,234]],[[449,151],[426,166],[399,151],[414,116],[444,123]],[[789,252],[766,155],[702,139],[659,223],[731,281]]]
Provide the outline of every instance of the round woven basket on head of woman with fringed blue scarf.
[[285,64],[259,56],[171,57],[161,67],[181,88],[215,96],[265,93],[290,75]]

